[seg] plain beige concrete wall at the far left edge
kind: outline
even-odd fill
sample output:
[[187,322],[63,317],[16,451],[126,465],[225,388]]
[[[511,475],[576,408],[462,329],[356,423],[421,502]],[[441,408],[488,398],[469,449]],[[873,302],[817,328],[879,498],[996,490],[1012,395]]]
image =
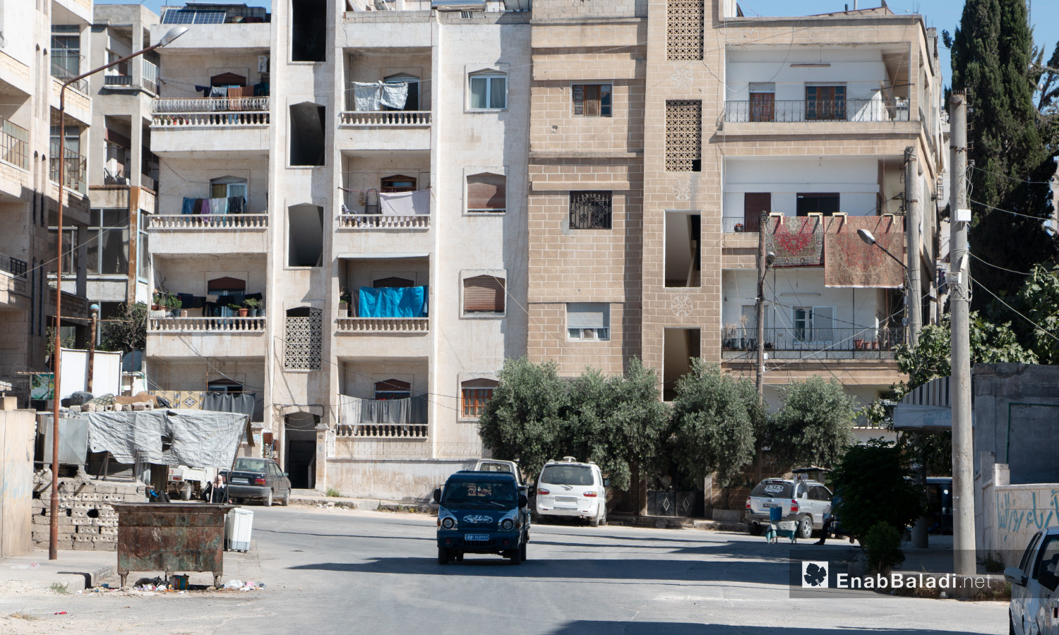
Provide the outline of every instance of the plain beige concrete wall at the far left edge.
[[35,433],[32,411],[0,411],[0,558],[30,550]]

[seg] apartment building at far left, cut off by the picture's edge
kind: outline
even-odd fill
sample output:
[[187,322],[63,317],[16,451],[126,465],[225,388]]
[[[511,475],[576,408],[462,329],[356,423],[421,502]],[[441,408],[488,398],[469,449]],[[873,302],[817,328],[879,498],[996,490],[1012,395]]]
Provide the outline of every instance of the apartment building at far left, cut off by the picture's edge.
[[[80,342],[88,305],[88,85],[66,91],[66,152],[59,157],[59,90],[87,70],[91,0],[0,3],[0,380],[21,405],[22,373],[46,369],[46,340],[55,315],[58,181],[65,175],[61,232],[62,340]],[[62,169],[60,170],[60,165]],[[5,386],[6,388],[7,386]]]

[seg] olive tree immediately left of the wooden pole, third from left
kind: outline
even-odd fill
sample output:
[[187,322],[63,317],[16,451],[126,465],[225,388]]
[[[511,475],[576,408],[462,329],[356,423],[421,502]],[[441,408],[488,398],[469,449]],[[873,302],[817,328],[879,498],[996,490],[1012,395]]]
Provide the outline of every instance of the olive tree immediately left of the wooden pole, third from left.
[[738,480],[754,456],[754,424],[744,395],[734,377],[693,360],[692,371],[677,381],[672,404],[677,457],[684,470],[714,472],[721,487]]

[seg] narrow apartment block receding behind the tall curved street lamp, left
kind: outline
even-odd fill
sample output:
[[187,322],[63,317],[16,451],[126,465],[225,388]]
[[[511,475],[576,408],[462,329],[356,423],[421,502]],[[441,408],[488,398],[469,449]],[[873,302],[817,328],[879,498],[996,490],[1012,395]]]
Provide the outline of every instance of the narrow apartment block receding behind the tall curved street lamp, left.
[[[150,44],[158,16],[142,4],[98,4],[91,68]],[[150,107],[158,96],[158,53],[88,78],[92,95],[89,193],[92,211],[85,262],[88,298],[109,319],[119,305],[149,302],[145,215],[155,212],[158,161],[150,152]]]

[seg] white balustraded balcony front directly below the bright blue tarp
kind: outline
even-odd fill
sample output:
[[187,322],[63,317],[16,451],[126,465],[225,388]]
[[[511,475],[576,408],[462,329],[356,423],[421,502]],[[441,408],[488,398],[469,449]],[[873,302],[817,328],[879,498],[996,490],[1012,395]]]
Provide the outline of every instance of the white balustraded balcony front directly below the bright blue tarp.
[[334,346],[339,357],[421,358],[430,355],[429,333],[430,318],[339,316]]

